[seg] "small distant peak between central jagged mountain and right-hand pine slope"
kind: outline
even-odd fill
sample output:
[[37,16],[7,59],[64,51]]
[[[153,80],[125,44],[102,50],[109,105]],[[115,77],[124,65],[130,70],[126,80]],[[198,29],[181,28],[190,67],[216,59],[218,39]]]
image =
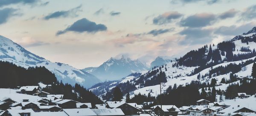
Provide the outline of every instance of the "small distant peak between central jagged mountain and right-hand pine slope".
[[150,63],[150,68],[154,66],[160,66],[168,64],[169,62],[175,62],[177,58],[167,57],[167,56],[159,56],[153,62]]

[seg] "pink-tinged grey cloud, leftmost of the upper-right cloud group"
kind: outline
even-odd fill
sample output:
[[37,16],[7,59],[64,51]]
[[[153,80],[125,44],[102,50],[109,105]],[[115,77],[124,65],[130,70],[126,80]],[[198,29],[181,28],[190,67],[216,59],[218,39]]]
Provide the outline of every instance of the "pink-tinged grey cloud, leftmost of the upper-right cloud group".
[[183,14],[180,14],[177,11],[170,11],[164,14],[159,15],[158,17],[154,17],[153,24],[155,25],[163,25],[166,23],[172,23],[173,20],[180,18]]

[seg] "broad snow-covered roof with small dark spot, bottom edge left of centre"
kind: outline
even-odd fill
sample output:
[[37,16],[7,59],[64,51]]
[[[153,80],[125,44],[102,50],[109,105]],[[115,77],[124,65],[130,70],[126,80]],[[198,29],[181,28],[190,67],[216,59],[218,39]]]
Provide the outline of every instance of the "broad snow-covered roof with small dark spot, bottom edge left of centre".
[[97,116],[90,108],[63,109],[68,116]]

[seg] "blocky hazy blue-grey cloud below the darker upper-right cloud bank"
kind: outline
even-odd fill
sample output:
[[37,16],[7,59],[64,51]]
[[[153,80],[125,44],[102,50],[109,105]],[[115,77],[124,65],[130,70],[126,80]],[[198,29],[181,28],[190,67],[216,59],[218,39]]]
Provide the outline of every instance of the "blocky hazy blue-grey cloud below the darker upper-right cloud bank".
[[185,28],[183,31],[180,31],[179,34],[185,36],[185,38],[179,42],[181,45],[205,44],[211,42],[213,39],[212,29]]

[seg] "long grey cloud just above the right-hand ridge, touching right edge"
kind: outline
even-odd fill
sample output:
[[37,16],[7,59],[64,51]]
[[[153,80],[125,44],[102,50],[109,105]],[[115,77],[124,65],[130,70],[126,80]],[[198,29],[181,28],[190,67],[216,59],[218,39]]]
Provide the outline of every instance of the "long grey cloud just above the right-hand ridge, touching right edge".
[[221,27],[215,29],[214,34],[221,34],[224,36],[228,36],[228,35],[235,36],[238,34],[243,34],[244,32],[250,30],[251,28],[253,28],[255,26],[256,26],[255,22],[247,23],[247,24],[240,25],[240,26],[236,26],[236,25],[221,26]]

